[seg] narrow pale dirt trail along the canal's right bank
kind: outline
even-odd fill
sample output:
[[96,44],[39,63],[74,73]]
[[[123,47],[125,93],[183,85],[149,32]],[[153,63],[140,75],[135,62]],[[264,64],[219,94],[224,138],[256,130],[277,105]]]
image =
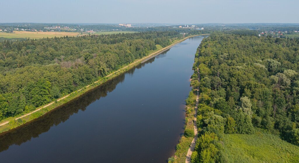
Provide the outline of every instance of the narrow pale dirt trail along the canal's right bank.
[[[198,71],[198,68],[197,68]],[[199,77],[199,72],[198,72],[198,81],[200,80]],[[190,148],[188,149],[187,155],[186,155],[186,161],[185,163],[190,163],[191,162],[191,155],[194,151],[195,148],[195,143],[198,137],[197,133],[197,125],[196,125],[196,117],[197,117],[197,109],[198,109],[198,102],[199,102],[199,86],[197,87],[197,94],[196,94],[196,104],[195,104],[195,114],[194,114],[194,123],[193,123],[193,128],[194,128],[194,138],[192,140],[192,143],[190,145]]]

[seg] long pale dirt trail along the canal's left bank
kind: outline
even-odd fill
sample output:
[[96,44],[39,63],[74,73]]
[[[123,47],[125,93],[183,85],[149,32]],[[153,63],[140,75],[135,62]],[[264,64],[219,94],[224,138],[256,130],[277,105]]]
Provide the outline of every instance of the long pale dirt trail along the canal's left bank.
[[[173,44],[171,44],[171,45],[169,45],[169,46],[164,47],[163,49],[158,50],[157,52],[153,52],[152,54],[150,54],[150,55],[148,55],[148,56],[146,56],[146,57],[144,57],[144,58],[141,58],[141,59],[139,59],[139,60],[137,60],[137,61],[135,61],[135,62],[133,62],[133,63],[131,63],[131,64],[129,64],[129,65],[123,67],[123,68],[121,68],[121,69],[118,69],[118,70],[115,71],[115,72],[112,72],[111,74],[107,75],[106,77],[109,77],[110,75],[115,74],[116,72],[119,72],[119,71],[121,71],[121,70],[123,70],[123,69],[126,69],[127,67],[129,67],[129,66],[131,66],[131,65],[133,65],[133,64],[135,64],[135,63],[138,63],[138,62],[140,62],[140,61],[142,61],[142,60],[146,60],[146,59],[148,59],[148,58],[154,57],[155,55],[159,55],[160,53],[162,53],[162,52],[164,52],[165,50],[171,48],[172,46],[174,46],[174,45],[176,45],[176,44],[178,44],[178,43],[180,43],[180,42],[186,40],[187,38],[194,37],[194,36],[199,36],[199,35],[193,35],[193,36],[185,37],[185,38],[183,38],[183,39],[181,39],[181,40],[179,40],[179,41],[177,41],[177,42],[175,42],[175,43],[173,43]],[[100,81],[100,80],[97,80],[97,81],[95,81],[94,83],[97,83],[97,82],[99,82],[99,81]],[[90,86],[90,85],[86,86],[86,88],[88,88],[89,86]],[[83,89],[83,88],[77,90],[77,92],[78,92],[78,91],[81,91],[82,89]],[[73,93],[75,93],[75,92],[73,92]],[[72,94],[72,93],[70,93],[70,94]],[[62,99],[64,99],[64,98],[68,97],[70,94],[68,94],[68,95],[66,95],[66,96],[64,96],[64,97],[61,97],[60,99],[57,99],[57,101],[60,101],[60,100],[62,100]],[[36,111],[41,110],[42,108],[48,107],[48,106],[50,106],[50,105],[52,105],[52,104],[54,104],[54,103],[55,103],[55,102],[48,103],[47,105],[42,106],[42,107],[36,109],[36,110],[33,111],[33,112],[30,112],[30,113],[25,114],[25,115],[23,115],[23,116],[21,116],[21,117],[15,118],[15,120],[20,119],[20,118],[23,118],[23,117],[26,117],[26,116],[28,116],[28,115],[30,115],[30,114],[36,112]],[[2,126],[2,125],[6,125],[6,124],[9,123],[9,122],[10,122],[10,121],[2,122],[2,123],[0,124],[0,126]]]

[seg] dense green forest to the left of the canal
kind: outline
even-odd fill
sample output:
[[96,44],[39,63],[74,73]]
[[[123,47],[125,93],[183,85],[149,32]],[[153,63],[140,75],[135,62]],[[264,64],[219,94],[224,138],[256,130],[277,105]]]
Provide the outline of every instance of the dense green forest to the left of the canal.
[[175,31],[0,42],[0,120],[34,110],[165,47]]

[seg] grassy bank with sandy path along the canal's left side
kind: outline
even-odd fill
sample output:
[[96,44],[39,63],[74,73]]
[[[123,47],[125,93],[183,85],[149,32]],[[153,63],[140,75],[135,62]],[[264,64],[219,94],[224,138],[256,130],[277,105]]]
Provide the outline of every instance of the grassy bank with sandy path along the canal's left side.
[[[193,35],[193,36],[196,36],[196,35]],[[193,37],[193,36],[189,36],[189,37]],[[0,133],[8,131],[13,128],[16,128],[18,126],[21,126],[21,125],[27,123],[27,122],[30,122],[33,119],[41,117],[42,115],[48,113],[49,111],[53,110],[54,108],[57,108],[60,105],[68,103],[71,100],[74,100],[75,98],[81,96],[82,94],[86,93],[87,91],[90,91],[90,90],[94,89],[95,87],[101,85],[102,83],[105,83],[106,81],[113,79],[114,77],[118,76],[119,74],[122,74],[123,72],[128,71],[129,69],[137,66],[144,60],[147,60],[149,58],[152,58],[152,57],[160,54],[161,52],[164,52],[165,50],[169,49],[173,45],[175,45],[181,41],[184,41],[185,39],[187,39],[189,37],[183,38],[181,40],[178,40],[178,39],[172,40],[172,44],[163,49],[161,49],[161,46],[157,45],[157,50],[150,52],[148,56],[141,58],[141,59],[137,59],[129,65],[124,65],[119,70],[113,72],[112,74],[109,74],[106,77],[100,78],[98,81],[96,81],[86,87],[83,87],[82,89],[79,89],[78,91],[72,92],[60,99],[57,99],[54,102],[51,102],[43,107],[38,108],[37,109],[38,111],[35,110],[35,111],[32,111],[31,113],[27,113],[27,114],[25,114],[26,116],[22,115],[22,116],[10,117],[10,118],[2,120],[0,122]],[[19,117],[22,117],[22,118],[19,118]]]

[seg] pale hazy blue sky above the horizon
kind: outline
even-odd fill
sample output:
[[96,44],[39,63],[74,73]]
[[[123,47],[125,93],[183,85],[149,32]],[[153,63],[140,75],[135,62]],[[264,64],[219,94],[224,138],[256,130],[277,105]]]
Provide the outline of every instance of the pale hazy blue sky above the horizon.
[[0,23],[299,23],[299,0],[0,0]]

